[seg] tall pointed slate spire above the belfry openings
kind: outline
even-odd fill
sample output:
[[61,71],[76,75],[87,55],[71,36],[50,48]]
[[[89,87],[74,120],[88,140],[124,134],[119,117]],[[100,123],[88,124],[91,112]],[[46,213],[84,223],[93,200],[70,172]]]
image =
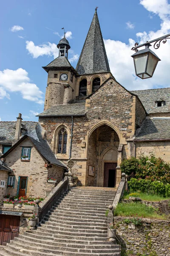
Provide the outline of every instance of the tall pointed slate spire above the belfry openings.
[[110,71],[96,10],[76,70],[79,75]]

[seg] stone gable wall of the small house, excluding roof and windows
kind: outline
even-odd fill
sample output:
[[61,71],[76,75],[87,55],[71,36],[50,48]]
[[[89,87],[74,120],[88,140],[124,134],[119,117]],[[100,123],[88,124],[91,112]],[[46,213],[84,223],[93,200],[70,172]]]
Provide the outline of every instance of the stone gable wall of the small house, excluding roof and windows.
[[[20,159],[22,147],[31,147],[30,161]],[[45,167],[45,160],[41,157],[34,144],[28,138],[21,142],[16,148],[6,156],[5,163],[13,169],[10,175],[15,176],[14,189],[7,188],[11,195],[17,195],[18,178],[28,177],[27,196],[46,197],[46,193],[53,189],[53,184],[47,183],[47,178],[51,175],[58,180],[62,180],[62,168],[52,166]]]

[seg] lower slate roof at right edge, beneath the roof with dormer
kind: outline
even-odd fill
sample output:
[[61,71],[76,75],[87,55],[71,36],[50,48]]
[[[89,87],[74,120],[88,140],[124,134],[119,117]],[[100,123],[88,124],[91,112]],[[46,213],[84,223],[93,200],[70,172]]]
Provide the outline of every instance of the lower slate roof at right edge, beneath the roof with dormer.
[[170,119],[147,117],[134,140],[170,139]]

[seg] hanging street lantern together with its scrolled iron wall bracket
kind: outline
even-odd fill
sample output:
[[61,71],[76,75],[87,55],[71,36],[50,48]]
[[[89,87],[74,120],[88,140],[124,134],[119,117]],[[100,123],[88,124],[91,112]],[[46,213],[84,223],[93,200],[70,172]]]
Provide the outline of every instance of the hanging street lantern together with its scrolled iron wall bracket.
[[[160,47],[161,41],[163,44],[165,44],[167,39],[170,39],[170,34],[164,35],[157,39],[153,39],[149,42],[147,41],[144,44],[135,44],[135,47],[133,47],[131,50],[135,51],[136,53],[131,57],[134,61],[136,76],[139,76],[142,79],[151,78],[153,76],[160,58],[153,51],[151,51],[151,49],[149,49],[149,47],[152,46],[150,43],[155,42],[153,47],[158,49]],[[139,51],[138,48],[143,46],[145,46],[145,49]]]

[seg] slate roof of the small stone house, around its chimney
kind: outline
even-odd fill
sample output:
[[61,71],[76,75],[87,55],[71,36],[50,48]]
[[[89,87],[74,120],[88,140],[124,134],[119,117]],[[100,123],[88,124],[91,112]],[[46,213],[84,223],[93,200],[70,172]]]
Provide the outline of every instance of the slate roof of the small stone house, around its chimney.
[[[14,140],[16,122],[0,122],[0,143],[12,143]],[[42,138],[42,127],[39,122],[22,122],[22,126],[25,126],[26,130],[22,131],[22,137],[17,141],[3,156],[5,157],[15,148],[21,141],[28,137],[37,151],[44,157],[49,163],[52,163],[63,168],[67,168],[64,163],[59,161],[53,151],[51,150],[48,142]],[[2,162],[0,162],[1,164]],[[4,168],[0,167],[0,168]],[[8,168],[8,166],[6,166]],[[10,169],[11,170],[11,169]]]

